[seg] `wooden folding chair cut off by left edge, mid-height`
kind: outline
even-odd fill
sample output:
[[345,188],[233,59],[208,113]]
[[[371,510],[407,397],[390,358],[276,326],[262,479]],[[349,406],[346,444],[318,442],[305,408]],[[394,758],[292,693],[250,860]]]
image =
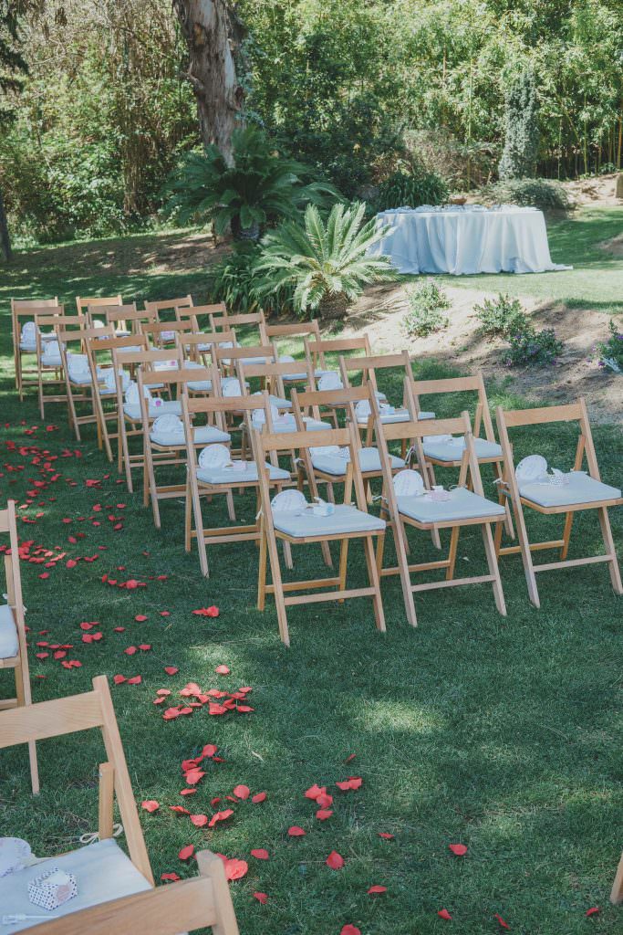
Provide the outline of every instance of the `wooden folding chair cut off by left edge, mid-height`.
[[[1,711],[33,703],[24,622],[25,608],[21,598],[20,543],[14,500],[8,500],[7,509],[0,510],[0,535],[3,538],[8,535],[8,542],[3,544],[7,603],[0,604],[0,669],[13,669],[16,696],[0,700]],[[30,779],[36,795],[39,791],[39,770],[36,764],[35,741],[28,741],[28,754]]]

